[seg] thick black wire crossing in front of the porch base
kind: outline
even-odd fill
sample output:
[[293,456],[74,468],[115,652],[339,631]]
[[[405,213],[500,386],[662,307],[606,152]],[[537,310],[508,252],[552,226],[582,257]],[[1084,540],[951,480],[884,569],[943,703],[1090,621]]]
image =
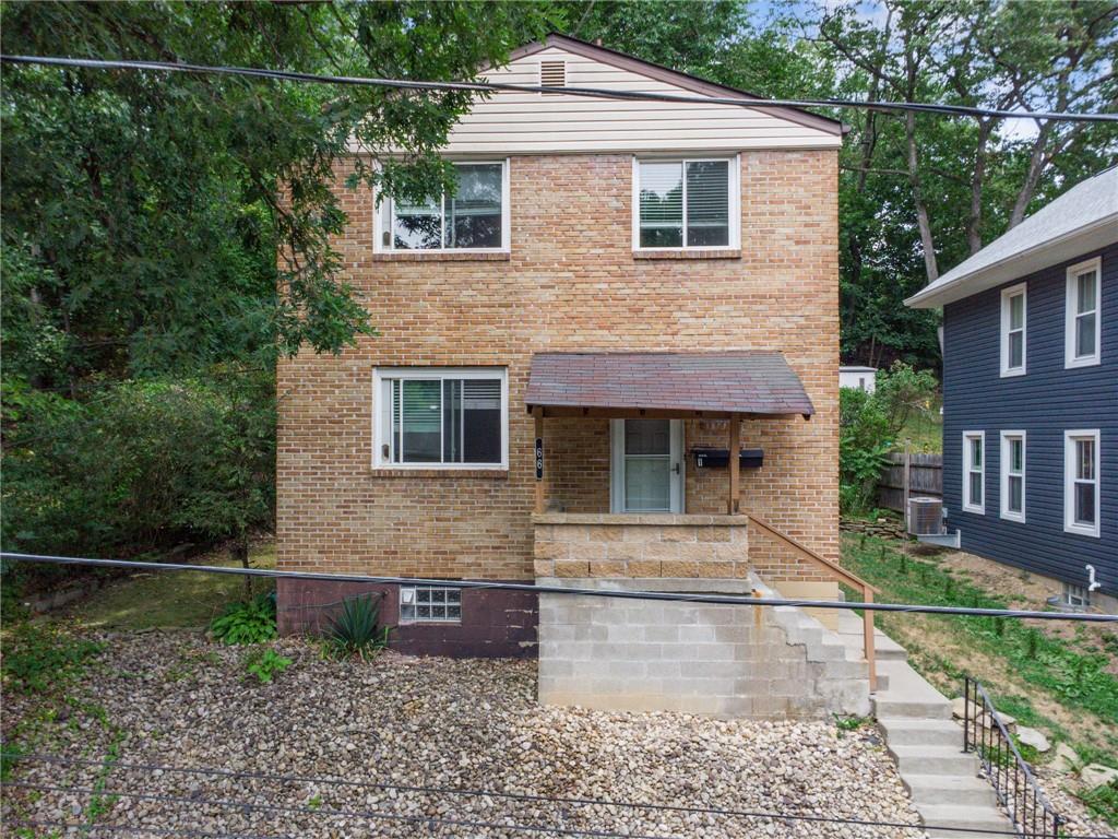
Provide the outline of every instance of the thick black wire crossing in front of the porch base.
[[489,579],[432,579],[426,577],[372,576],[362,574],[322,574],[272,568],[237,568],[222,565],[190,565],[187,563],[144,563],[134,559],[91,559],[48,554],[16,554],[0,552],[0,559],[50,565],[88,565],[100,568],[133,568],[139,571],[187,571],[202,574],[239,574],[273,579],[306,579],[328,583],[369,583],[376,585],[418,585],[435,588],[480,588],[501,592],[534,594],[566,594],[582,597],[615,600],[667,601],[674,603],[703,603],[721,606],[796,606],[799,609],[844,609],[871,612],[903,612],[908,614],[954,614],[974,618],[1026,618],[1039,621],[1078,621],[1081,623],[1118,623],[1118,615],[1087,612],[1035,612],[1017,609],[975,609],[969,606],[931,606],[908,603],[858,603],[830,600],[788,600],[785,597],[749,597],[724,594],[688,594],[681,592],[617,591],[607,588],[567,588],[534,583],[503,583]]

